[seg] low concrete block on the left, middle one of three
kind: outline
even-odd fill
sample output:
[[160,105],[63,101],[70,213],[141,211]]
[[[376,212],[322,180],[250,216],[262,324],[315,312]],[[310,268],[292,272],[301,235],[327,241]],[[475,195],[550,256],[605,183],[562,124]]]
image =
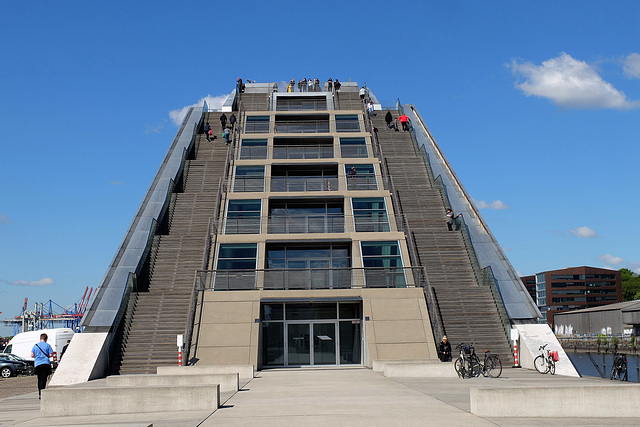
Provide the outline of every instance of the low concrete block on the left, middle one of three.
[[235,393],[239,389],[238,374],[202,375],[113,375],[107,377],[107,387],[156,387],[163,385],[220,384],[221,393]]

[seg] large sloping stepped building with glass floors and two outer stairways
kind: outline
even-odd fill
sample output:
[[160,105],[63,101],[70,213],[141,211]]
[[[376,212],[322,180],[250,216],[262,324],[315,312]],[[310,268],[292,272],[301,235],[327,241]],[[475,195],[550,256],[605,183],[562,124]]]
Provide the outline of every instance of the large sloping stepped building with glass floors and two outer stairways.
[[417,110],[286,87],[189,111],[85,316],[86,376],[175,364],[179,334],[197,364],[435,359],[443,334],[509,364],[540,313]]

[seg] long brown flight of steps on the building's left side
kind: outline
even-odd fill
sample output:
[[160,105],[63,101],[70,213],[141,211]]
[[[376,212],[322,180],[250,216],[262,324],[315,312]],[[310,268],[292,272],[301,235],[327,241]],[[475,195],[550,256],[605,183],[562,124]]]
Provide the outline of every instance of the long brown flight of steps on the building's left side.
[[[216,129],[219,117],[207,113],[205,122]],[[148,283],[139,283],[146,291],[137,294],[120,351],[111,361],[112,373],[155,373],[157,366],[177,364],[176,335],[185,332],[194,273],[202,268],[209,218],[229,149],[221,138],[209,142],[204,135],[198,135],[197,144],[183,191],[172,195],[168,233],[155,237]]]

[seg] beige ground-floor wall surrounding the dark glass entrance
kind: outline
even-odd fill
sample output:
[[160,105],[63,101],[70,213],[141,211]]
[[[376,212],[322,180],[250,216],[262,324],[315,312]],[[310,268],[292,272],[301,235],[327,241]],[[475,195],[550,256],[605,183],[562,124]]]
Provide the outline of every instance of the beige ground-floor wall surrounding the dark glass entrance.
[[197,365],[249,364],[260,369],[260,301],[289,298],[361,298],[363,365],[371,366],[374,359],[437,359],[422,288],[207,291],[196,314],[191,357]]

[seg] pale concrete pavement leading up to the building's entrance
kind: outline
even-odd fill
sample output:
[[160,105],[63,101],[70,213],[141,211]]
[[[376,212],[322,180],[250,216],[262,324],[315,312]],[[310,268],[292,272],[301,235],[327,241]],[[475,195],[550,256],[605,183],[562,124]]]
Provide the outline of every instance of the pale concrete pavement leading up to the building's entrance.
[[[548,426],[640,425],[638,418],[479,417],[470,413],[472,388],[596,386],[619,383],[598,378],[540,375],[506,368],[491,378],[386,378],[362,367],[273,369],[258,372],[241,391],[221,396],[217,411],[50,417],[41,414],[37,393],[0,400],[0,425],[143,426]],[[626,384],[640,387],[638,384]],[[571,396],[566,402],[571,404]],[[527,405],[527,402],[522,402]],[[544,415],[545,408],[539,408]]]

